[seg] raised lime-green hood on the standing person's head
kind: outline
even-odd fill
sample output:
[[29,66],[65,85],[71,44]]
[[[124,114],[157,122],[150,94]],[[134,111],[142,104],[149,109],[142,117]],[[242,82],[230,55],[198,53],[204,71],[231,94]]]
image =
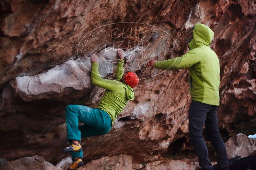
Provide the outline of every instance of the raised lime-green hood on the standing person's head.
[[190,50],[198,46],[210,46],[213,36],[211,28],[204,24],[196,24],[193,30],[193,39],[189,43]]

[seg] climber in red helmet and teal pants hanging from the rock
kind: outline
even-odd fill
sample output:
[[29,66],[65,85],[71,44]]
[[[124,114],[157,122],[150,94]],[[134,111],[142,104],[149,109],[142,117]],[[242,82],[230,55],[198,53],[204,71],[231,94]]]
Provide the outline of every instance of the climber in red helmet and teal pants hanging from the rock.
[[[124,53],[117,49],[119,61],[116,67],[116,80],[101,78],[98,71],[98,57],[91,57],[92,84],[106,89],[97,108],[93,109],[82,105],[68,105],[66,107],[67,140],[69,145],[61,153],[71,152],[73,163],[69,170],[83,166],[83,151],[81,138],[99,136],[108,133],[116,117],[124,109],[128,100],[134,99],[134,88],[138,83],[138,76],[133,72],[124,74]],[[83,125],[78,126],[78,122]]]

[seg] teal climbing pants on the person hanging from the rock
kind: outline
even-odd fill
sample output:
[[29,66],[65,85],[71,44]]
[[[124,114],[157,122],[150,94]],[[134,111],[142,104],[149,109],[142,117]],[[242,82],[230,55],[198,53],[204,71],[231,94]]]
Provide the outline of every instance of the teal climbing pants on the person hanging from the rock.
[[[84,123],[78,126],[78,122]],[[79,140],[108,133],[112,121],[107,112],[82,105],[66,107],[67,140]],[[83,157],[83,152],[72,152],[72,159]]]

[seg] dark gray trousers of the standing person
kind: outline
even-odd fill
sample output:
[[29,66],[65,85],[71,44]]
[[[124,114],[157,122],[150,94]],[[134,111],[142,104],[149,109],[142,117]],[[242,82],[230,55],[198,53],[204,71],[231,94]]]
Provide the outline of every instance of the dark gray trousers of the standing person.
[[198,156],[202,170],[212,169],[208,157],[208,149],[203,136],[203,127],[206,125],[206,136],[211,141],[216,153],[220,169],[229,165],[226,147],[218,128],[218,106],[192,101],[189,108],[189,137]]

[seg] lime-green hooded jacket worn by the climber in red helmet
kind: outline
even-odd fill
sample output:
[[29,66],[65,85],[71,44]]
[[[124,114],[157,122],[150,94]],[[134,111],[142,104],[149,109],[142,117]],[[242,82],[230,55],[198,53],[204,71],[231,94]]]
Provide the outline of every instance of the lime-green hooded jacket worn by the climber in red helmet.
[[111,117],[112,124],[114,124],[114,120],[124,109],[128,100],[134,99],[134,91],[125,82],[119,81],[124,75],[124,60],[118,61],[116,67],[117,80],[101,78],[98,67],[98,63],[92,63],[91,81],[93,85],[106,89],[106,91],[97,108],[107,112]]

